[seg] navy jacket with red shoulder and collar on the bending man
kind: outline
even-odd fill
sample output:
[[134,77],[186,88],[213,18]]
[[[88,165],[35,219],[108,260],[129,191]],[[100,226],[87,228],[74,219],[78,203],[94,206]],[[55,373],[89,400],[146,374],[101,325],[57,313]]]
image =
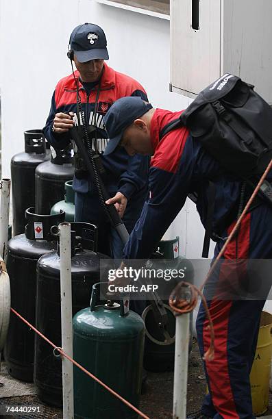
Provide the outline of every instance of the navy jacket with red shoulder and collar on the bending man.
[[174,129],[159,139],[164,126],[180,114],[161,109],[153,114],[151,141],[155,153],[149,169],[149,199],[125,246],[124,259],[149,257],[190,193],[198,194],[197,210],[205,227],[210,180],[216,185],[214,228],[239,200],[240,181],[226,173],[186,127]]

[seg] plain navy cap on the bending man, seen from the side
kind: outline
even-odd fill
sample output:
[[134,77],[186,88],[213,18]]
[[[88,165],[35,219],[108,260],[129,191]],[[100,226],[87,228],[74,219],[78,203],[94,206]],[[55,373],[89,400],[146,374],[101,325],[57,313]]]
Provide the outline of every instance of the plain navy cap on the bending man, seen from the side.
[[140,97],[121,97],[110,107],[103,118],[110,141],[104,155],[112,153],[118,146],[123,133],[135,119],[140,118],[152,109],[151,103],[146,103]]

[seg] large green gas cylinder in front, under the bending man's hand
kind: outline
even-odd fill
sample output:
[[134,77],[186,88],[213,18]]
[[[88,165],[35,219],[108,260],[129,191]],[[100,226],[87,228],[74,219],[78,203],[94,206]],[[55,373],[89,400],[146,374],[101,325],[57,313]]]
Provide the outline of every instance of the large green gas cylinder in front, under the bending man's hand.
[[[145,325],[127,301],[97,305],[101,283],[92,286],[90,307],[73,318],[73,357],[123,398],[140,403]],[[138,415],[74,367],[75,418],[136,419]]]

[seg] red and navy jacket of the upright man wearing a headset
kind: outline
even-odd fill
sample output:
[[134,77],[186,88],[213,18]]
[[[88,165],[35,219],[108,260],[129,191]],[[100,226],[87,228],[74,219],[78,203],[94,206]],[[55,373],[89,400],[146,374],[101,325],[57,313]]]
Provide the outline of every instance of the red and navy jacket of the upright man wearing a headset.
[[[75,71],[75,77],[78,79],[78,71]],[[97,93],[98,88],[99,94]],[[129,157],[125,149],[121,147],[116,149],[114,153],[103,156],[103,151],[108,144],[103,116],[108,112],[112,103],[121,97],[139,96],[147,101],[145,89],[132,77],[118,73],[104,63],[100,86],[96,85],[88,95],[79,80],[79,94],[82,101],[82,110],[88,125],[95,125],[95,104],[97,104],[97,149],[101,153],[103,166],[106,168],[105,183],[108,192],[115,194],[119,190],[127,199],[130,199],[134,194],[137,194],[139,198],[142,195],[141,191],[143,196],[146,196],[149,157],[140,155]],[[55,114],[57,112],[76,112],[76,103],[76,84],[73,74],[71,74],[58,82],[53,92],[47,123],[43,129],[45,137],[56,149],[64,149],[69,144],[70,137],[69,133],[55,134],[52,131]],[[95,148],[95,144],[93,146]],[[76,192],[95,192],[89,177],[86,179],[75,178],[73,188]]]

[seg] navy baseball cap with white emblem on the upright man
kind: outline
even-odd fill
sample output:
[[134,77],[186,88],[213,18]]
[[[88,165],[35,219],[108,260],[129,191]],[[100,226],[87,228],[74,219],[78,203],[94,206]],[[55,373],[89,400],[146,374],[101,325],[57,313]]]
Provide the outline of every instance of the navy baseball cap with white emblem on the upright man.
[[106,36],[100,26],[84,23],[75,27],[69,43],[79,62],[109,59]]

